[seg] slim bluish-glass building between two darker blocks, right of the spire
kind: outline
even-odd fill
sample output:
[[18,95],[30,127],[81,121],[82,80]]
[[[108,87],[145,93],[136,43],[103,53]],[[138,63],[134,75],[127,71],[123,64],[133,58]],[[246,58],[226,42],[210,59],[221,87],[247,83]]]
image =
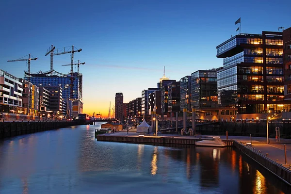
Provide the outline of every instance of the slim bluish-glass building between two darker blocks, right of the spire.
[[191,76],[185,76],[180,80],[180,110],[187,109],[187,111],[192,111],[191,107]]

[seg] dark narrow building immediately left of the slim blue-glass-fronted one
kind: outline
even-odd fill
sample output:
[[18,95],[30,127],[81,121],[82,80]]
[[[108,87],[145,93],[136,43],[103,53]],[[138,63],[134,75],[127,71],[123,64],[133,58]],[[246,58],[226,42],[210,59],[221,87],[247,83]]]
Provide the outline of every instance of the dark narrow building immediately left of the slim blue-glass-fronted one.
[[180,111],[180,81],[168,84],[168,112],[177,113]]

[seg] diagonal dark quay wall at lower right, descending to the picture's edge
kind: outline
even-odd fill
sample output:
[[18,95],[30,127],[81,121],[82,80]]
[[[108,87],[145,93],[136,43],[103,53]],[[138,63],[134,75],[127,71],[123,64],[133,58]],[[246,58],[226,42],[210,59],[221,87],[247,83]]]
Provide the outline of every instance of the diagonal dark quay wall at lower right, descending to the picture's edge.
[[287,184],[291,185],[291,170],[269,159],[268,157],[252,150],[250,147],[238,143],[237,141],[234,141],[233,145],[238,148],[242,153],[244,153],[255,162],[258,162],[261,166],[272,172],[275,176],[282,179]]

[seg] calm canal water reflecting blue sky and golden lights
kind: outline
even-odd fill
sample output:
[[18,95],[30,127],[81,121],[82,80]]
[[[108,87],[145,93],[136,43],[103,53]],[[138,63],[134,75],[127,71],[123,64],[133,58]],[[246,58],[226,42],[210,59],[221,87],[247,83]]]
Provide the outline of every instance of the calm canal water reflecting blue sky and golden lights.
[[74,126],[0,141],[0,194],[282,194],[234,148],[98,142]]

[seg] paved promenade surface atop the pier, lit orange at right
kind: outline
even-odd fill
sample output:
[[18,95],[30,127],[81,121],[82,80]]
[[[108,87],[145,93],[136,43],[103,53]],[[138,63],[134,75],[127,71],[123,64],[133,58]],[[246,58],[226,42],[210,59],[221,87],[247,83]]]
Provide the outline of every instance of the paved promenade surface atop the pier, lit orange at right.
[[[106,136],[131,136],[131,137],[138,137],[136,132],[129,132],[127,131],[117,131],[114,133],[107,133],[102,134]],[[196,139],[195,136],[180,136],[180,135],[164,135],[158,134],[158,136],[154,136],[153,134],[145,134],[146,137],[151,138],[175,138],[175,139]],[[226,139],[226,136],[221,136],[221,139]],[[246,136],[228,136],[229,140],[237,140],[238,142],[242,143],[250,143],[250,137]],[[285,164],[285,153],[284,153],[284,144],[286,144],[286,155],[287,155],[287,164],[291,164],[291,139],[280,139],[280,143],[276,142],[275,138],[269,138],[270,144],[266,144],[265,137],[252,137],[252,146],[254,147],[254,151],[258,152],[266,156],[268,153],[268,158],[277,162],[279,164]],[[277,161],[278,160],[278,161]]]

